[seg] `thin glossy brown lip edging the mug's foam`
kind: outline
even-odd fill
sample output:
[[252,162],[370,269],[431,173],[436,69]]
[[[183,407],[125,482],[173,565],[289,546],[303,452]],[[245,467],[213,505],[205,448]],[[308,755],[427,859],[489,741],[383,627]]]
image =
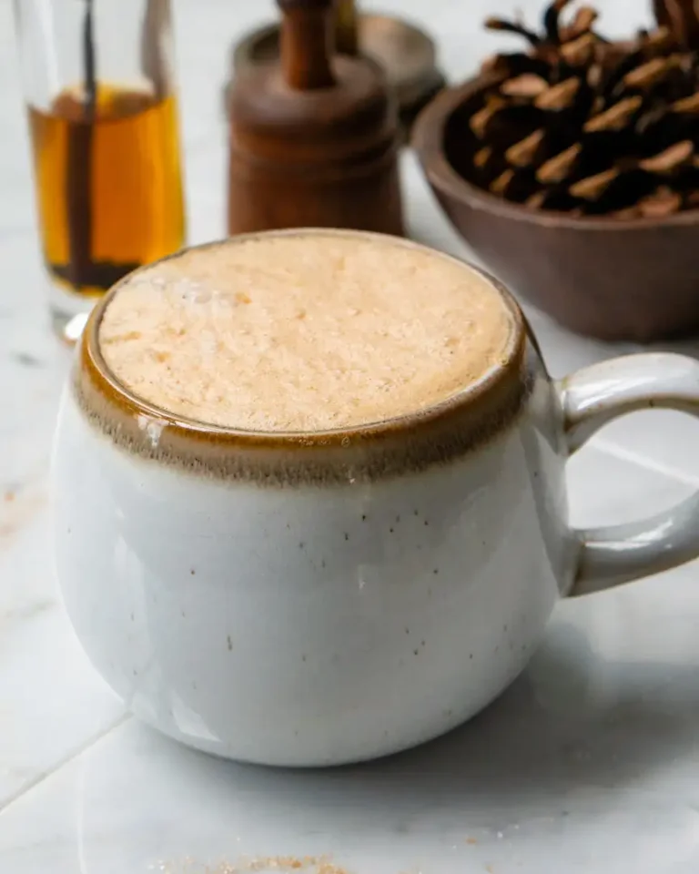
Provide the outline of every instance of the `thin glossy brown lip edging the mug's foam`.
[[[146,272],[149,269],[157,267],[157,264],[164,261],[176,260],[191,251],[205,251],[206,249],[218,249],[222,246],[238,245],[251,239],[268,239],[275,237],[312,237],[312,236],[332,236],[332,237],[349,237],[354,239],[373,239],[377,241],[386,241],[392,246],[402,246],[406,249],[418,249],[427,252],[431,255],[451,261],[457,264],[461,269],[466,269],[475,272],[482,279],[485,279],[491,288],[496,291],[505,305],[510,316],[510,336],[508,337],[504,348],[503,358],[493,364],[487,371],[481,374],[470,385],[455,391],[449,397],[441,401],[431,404],[430,406],[414,411],[403,413],[400,416],[393,416],[388,419],[380,419],[374,422],[366,422],[358,425],[345,426],[319,431],[261,431],[254,429],[243,429],[225,425],[218,425],[212,422],[201,422],[198,419],[192,419],[187,416],[182,416],[178,413],[167,411],[165,408],[157,406],[157,404],[147,401],[139,397],[135,392],[117,378],[109,368],[104,355],[100,349],[99,329],[102,319],[106,313],[106,309],[110,302],[117,296],[127,283],[131,282],[140,273]],[[98,394],[103,396],[104,401],[107,401],[110,406],[117,408],[115,412],[127,414],[129,417],[144,417],[149,420],[157,421],[168,429],[173,429],[182,437],[194,439],[197,442],[216,442],[226,445],[242,445],[256,448],[282,448],[292,445],[345,445],[347,441],[361,439],[366,442],[372,438],[381,438],[387,436],[399,436],[402,432],[410,432],[420,425],[430,425],[434,422],[443,421],[456,412],[462,412],[466,408],[470,408],[478,401],[489,395],[491,391],[501,381],[508,377],[512,378],[515,373],[512,372],[513,365],[516,364],[522,357],[524,341],[526,337],[525,322],[518,303],[512,297],[512,294],[498,280],[491,276],[486,270],[477,267],[469,261],[460,259],[447,252],[442,252],[439,249],[433,249],[423,243],[411,239],[394,237],[390,234],[381,234],[373,231],[351,230],[351,229],[325,229],[325,228],[301,228],[301,229],[281,229],[256,231],[247,234],[238,234],[235,237],[228,239],[218,239],[206,243],[201,243],[196,246],[185,247],[178,249],[177,252],[167,255],[165,258],[157,259],[147,265],[143,265],[138,269],[127,274],[123,279],[120,279],[106,294],[96,303],[90,316],[86,322],[85,330],[80,340],[80,350],[78,352],[77,370],[78,374],[91,383],[91,387]],[[519,371],[519,367],[516,367]]]

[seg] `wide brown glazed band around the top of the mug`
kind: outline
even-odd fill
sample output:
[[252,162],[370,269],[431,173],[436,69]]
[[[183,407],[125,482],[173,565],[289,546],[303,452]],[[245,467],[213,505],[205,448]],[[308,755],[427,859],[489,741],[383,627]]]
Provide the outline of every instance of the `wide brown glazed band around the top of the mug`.
[[[474,270],[501,294],[512,317],[512,331],[503,361],[494,365],[479,381],[426,410],[356,427],[319,432],[262,432],[198,422],[167,412],[129,391],[109,370],[99,349],[99,328],[110,301],[123,285],[154,266],[150,264],[117,282],[97,303],[87,320],[74,378],[76,399],[87,418],[130,452],[165,462],[178,462],[180,467],[206,468],[209,473],[219,473],[227,478],[279,483],[308,480],[346,482],[349,473],[353,479],[373,479],[402,471],[406,465],[410,468],[426,467],[445,460],[447,456],[462,454],[495,436],[520,412],[523,398],[529,391],[523,362],[526,330],[522,311],[497,279],[461,259],[386,234],[341,229],[286,229],[241,234],[184,249],[161,260],[173,260],[188,251],[206,251],[249,239],[307,235],[384,240],[392,246],[428,251]],[[139,430],[141,433],[144,430],[143,422],[157,424],[163,434],[163,439],[158,441],[162,445],[150,445],[145,436],[139,436]],[[138,423],[137,427],[135,423]],[[456,431],[459,433],[455,437],[452,432]],[[410,440],[406,441],[408,435]],[[404,445],[406,442],[410,442],[410,451]],[[231,452],[234,449],[236,452]],[[342,450],[341,457],[339,449]],[[370,458],[374,454],[376,457]],[[340,471],[339,467],[343,470]],[[291,468],[293,472],[290,473]]]

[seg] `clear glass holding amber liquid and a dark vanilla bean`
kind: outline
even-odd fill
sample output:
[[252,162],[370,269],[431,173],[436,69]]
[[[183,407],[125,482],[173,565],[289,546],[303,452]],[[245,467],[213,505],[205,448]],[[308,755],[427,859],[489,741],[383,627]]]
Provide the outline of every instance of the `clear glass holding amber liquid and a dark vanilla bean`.
[[15,0],[56,331],[179,249],[185,216],[169,0]]

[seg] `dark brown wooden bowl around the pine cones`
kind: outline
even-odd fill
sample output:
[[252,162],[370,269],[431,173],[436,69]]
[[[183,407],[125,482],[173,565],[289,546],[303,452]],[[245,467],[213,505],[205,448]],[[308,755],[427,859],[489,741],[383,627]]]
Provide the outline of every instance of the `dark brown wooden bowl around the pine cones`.
[[471,249],[513,291],[578,333],[648,342],[699,331],[699,210],[575,218],[476,187],[457,168],[469,151],[463,114],[486,85],[479,78],[442,91],[412,135],[434,194]]

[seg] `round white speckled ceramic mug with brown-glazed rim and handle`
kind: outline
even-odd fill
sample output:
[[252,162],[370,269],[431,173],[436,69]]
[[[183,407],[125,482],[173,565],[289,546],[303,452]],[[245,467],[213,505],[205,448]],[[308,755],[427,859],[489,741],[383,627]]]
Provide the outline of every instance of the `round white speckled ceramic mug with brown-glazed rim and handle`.
[[559,597],[699,553],[696,498],[575,531],[563,475],[616,416],[696,414],[699,363],[636,355],[553,383],[502,294],[508,360],[481,381],[427,413],[313,434],[139,400],[100,355],[109,298],[97,306],[56,438],[57,569],[87,654],[137,716],[253,762],[383,756],[497,696]]

